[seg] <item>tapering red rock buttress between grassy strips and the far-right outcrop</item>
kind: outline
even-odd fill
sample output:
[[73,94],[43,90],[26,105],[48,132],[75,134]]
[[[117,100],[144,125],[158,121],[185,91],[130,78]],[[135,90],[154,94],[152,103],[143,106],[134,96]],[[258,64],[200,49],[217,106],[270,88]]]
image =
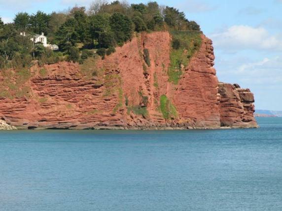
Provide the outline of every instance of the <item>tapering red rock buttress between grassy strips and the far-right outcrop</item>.
[[[212,41],[202,35],[202,46],[190,61],[174,95],[177,111],[184,125],[218,128],[218,80],[213,66]],[[185,124],[186,123],[186,124]]]

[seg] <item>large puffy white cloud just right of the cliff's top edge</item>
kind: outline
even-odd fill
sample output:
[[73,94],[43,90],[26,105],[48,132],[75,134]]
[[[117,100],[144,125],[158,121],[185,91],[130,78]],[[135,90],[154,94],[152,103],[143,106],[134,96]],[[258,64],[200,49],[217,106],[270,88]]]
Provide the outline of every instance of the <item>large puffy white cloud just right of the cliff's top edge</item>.
[[250,26],[232,26],[211,35],[214,46],[226,51],[282,50],[282,37],[271,35],[266,29]]

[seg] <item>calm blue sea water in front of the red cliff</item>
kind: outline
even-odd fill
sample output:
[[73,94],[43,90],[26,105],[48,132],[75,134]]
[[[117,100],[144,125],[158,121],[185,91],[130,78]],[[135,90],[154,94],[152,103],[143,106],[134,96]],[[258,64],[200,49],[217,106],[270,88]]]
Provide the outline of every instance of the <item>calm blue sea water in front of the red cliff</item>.
[[282,118],[259,129],[0,131],[0,211],[281,211]]

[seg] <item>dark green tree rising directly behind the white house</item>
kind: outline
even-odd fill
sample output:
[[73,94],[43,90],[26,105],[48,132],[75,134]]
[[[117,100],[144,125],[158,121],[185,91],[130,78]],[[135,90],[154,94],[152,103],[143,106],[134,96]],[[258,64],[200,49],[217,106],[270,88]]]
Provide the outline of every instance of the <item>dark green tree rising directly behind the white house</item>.
[[41,32],[47,34],[49,21],[50,15],[47,15],[46,13],[41,11],[37,11],[36,14],[33,14],[30,17],[30,25],[32,31],[37,34],[40,34]]

